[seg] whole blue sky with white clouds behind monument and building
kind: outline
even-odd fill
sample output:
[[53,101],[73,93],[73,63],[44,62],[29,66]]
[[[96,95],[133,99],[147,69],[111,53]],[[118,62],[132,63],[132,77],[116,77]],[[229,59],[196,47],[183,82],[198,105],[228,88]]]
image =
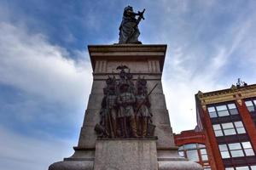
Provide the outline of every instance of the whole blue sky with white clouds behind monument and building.
[[255,1],[0,1],[0,165],[43,170],[73,153],[92,82],[88,44],[118,42],[123,8],[146,8],[140,40],[168,45],[163,74],[175,133],[195,97],[256,75]]

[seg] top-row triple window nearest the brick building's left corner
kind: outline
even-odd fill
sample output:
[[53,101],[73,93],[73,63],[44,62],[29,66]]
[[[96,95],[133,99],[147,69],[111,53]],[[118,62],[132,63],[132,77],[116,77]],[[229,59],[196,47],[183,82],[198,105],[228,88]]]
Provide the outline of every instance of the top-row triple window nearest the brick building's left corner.
[[226,105],[210,106],[207,109],[208,109],[209,116],[211,118],[238,114],[236,105],[234,103],[226,104]]

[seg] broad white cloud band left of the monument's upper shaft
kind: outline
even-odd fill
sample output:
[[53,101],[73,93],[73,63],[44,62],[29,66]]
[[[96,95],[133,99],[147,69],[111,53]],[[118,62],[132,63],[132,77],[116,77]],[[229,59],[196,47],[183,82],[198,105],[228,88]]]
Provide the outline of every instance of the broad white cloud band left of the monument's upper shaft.
[[1,83],[65,105],[81,104],[90,93],[90,62],[71,59],[64,48],[25,27],[0,23],[0,56]]

